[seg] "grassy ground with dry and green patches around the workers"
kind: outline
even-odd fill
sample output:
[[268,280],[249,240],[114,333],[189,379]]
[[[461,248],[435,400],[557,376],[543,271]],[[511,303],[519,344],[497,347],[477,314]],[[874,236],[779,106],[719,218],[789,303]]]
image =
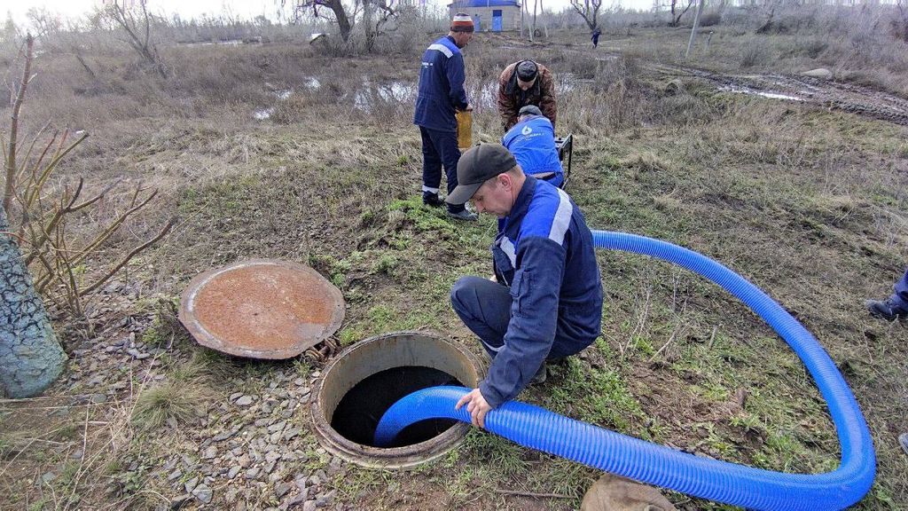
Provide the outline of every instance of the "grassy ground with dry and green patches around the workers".
[[[593,52],[570,40],[523,45],[480,35],[466,50],[469,87],[480,98],[498,69],[523,56],[571,73],[576,81],[559,96],[558,129],[576,136],[568,192],[588,224],[709,255],[800,319],[842,369],[871,427],[878,474],[856,508],[903,509],[908,456],[896,436],[908,416],[908,330],[870,318],[863,300],[887,295],[908,260],[905,128],[717,94],[695,82],[665,95],[667,78],[647,70],[658,52],[641,48],[658,41],[662,55],[671,55],[685,36],[631,32]],[[751,35],[727,37],[729,48],[753,42]],[[616,57],[611,46],[626,56]],[[729,48],[728,55],[740,55]],[[76,68],[64,58],[39,70],[59,79],[39,78],[32,118],[93,132],[65,163],[65,175],[85,175],[95,187],[114,177],[141,179],[163,191],[120,242],[146,237],[173,212],[181,221],[131,265],[118,291],[95,299],[91,334],[61,325],[72,374],[106,371],[104,383],[70,377],[46,401],[0,402],[0,493],[9,497],[7,508],[160,505],[183,494],[162,469],[168,460],[197,456],[206,438],[242,424],[224,406],[227,396],[267,392],[273,382],[317,371],[301,360],[219,356],[168,320],[159,300],[176,300],[192,276],[214,266],[251,257],[313,266],[348,304],[337,334],[344,345],[423,328],[478,351],[447,296],[458,276],[488,273],[494,219],[451,223],[422,206],[411,104],[374,94],[366,111],[353,94],[362,76],[373,84],[413,83],[417,56],[329,60],[266,45],[180,48],[165,57],[181,69],[166,85],[144,81],[113,57],[104,61],[109,72],[100,85],[66,72]],[[715,59],[725,71],[739,68],[732,56]],[[311,77],[321,86],[303,89]],[[265,82],[297,94],[278,100]],[[253,119],[271,105],[270,120]],[[474,123],[475,140],[500,135],[493,107],[481,100]],[[603,336],[522,400],[752,466],[787,472],[837,466],[822,398],[797,357],[755,315],[674,267],[607,252],[599,260]],[[130,335],[162,346],[153,365],[111,367],[113,358],[98,357],[104,351],[95,346]],[[76,397],[121,384],[115,400]],[[595,470],[479,431],[414,471],[332,471],[307,417],[291,418],[301,428],[293,440],[301,455],[286,466],[286,477],[330,472],[336,508],[572,509],[597,478]],[[73,456],[77,450],[81,457]],[[53,477],[44,480],[48,473]],[[259,483],[217,478],[208,507],[279,506],[271,489],[281,481]],[[231,502],[233,489],[241,498]],[[682,509],[727,508],[669,497]]]

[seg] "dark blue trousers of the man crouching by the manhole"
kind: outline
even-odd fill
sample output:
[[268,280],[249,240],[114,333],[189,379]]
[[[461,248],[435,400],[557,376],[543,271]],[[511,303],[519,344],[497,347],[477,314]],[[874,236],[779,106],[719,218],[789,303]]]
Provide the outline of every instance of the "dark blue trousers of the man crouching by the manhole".
[[[482,347],[495,358],[505,344],[510,323],[511,296],[508,286],[479,276],[463,276],[451,289],[451,306],[470,331],[479,336]],[[555,342],[548,360],[579,353],[589,342],[578,342],[555,329]]]

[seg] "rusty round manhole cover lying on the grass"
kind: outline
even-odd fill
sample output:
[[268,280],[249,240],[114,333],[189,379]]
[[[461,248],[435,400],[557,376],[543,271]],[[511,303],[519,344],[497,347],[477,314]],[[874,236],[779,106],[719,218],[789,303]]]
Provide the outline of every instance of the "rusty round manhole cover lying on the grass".
[[309,266],[251,259],[196,276],[180,321],[202,346],[236,356],[290,358],[341,326],[341,291]]

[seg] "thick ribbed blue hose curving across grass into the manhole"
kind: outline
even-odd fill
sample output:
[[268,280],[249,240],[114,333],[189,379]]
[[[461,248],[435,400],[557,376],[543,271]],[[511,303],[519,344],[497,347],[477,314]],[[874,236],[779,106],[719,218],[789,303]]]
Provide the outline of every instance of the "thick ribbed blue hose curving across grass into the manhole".
[[[521,446],[593,466],[619,476],[748,509],[843,509],[861,500],[876,472],[873,440],[864,416],[832,359],[782,306],[712,259],[684,247],[640,235],[593,231],[598,248],[651,255],[683,266],[722,286],[763,317],[814,376],[842,446],[841,464],[824,474],[785,474],[693,456],[509,401],[489,412],[486,429]],[[375,445],[387,446],[406,426],[427,418],[470,422],[466,406],[454,406],[468,388],[430,387],[405,396],[381,417]]]

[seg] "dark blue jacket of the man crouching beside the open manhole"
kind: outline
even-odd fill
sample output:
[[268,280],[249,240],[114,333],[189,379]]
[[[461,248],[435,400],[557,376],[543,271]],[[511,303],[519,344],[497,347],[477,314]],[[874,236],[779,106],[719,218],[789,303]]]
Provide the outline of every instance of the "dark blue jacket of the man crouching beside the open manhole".
[[602,282],[580,208],[563,190],[527,176],[492,247],[498,282],[510,286],[504,346],[479,384],[497,407],[529,383],[555,341],[580,351],[599,336]]

